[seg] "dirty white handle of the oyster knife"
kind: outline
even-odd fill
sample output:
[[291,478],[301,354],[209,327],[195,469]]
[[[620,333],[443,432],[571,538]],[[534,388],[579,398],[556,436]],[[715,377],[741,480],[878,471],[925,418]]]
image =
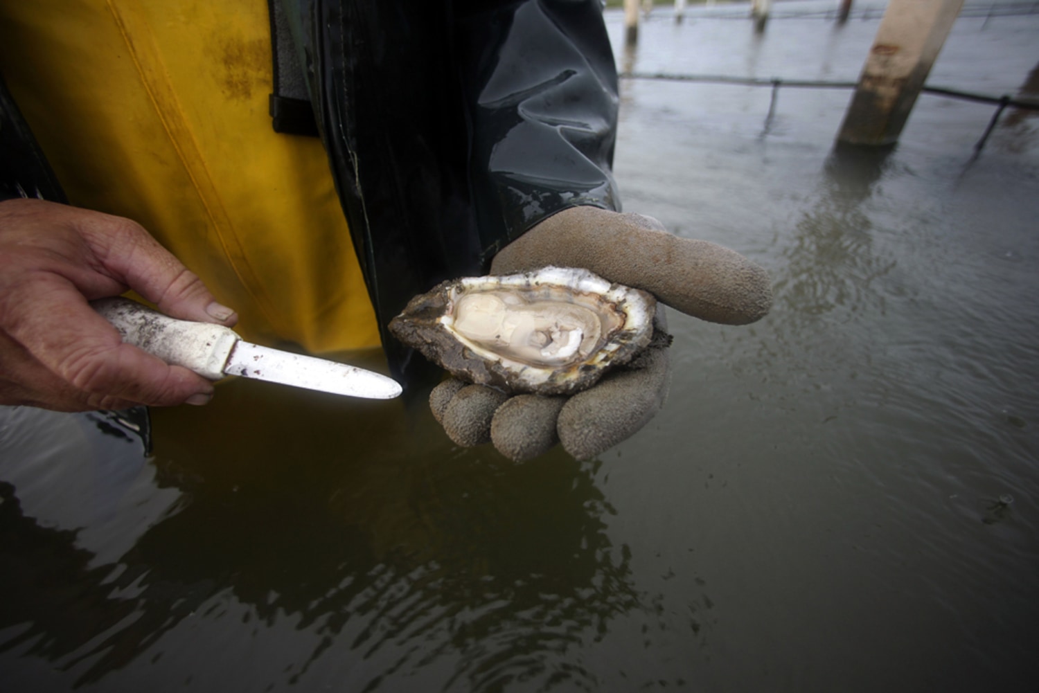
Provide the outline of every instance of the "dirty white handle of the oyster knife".
[[90,305],[115,326],[127,344],[210,380],[223,377],[223,366],[241,339],[223,325],[177,320],[129,298],[102,298]]

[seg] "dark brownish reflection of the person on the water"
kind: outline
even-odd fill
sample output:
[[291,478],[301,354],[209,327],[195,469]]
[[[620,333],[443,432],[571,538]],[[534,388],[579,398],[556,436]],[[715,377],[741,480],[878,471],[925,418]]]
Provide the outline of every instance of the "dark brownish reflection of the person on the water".
[[94,684],[161,669],[195,649],[201,622],[234,616],[236,637],[263,632],[261,649],[281,638],[299,648],[265,672],[270,684],[320,668],[356,690],[417,671],[422,690],[595,688],[550,656],[601,637],[644,597],[628,550],[604,531],[594,465],[558,453],[516,465],[454,449],[427,415],[391,416],[394,404],[256,388],[221,387],[208,414],[154,414],[154,484],[178,497],[111,563],[95,564],[75,529],[26,516],[3,487],[0,560],[18,569],[0,588],[20,598],[0,610],[0,650]]

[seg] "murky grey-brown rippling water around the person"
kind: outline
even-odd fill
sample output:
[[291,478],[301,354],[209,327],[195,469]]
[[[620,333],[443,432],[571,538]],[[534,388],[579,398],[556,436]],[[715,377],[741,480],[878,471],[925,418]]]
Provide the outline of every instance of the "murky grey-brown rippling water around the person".
[[[876,26],[660,9],[618,60],[854,80]],[[1037,29],[959,20],[932,83],[1018,94]],[[835,151],[849,98],[766,124],[767,88],[623,82],[625,209],[776,302],[672,311],[667,406],[596,460],[243,381],[155,411],[151,455],[5,410],[0,690],[1034,691],[1039,119],[975,156],[991,107],[925,96],[893,151]]]

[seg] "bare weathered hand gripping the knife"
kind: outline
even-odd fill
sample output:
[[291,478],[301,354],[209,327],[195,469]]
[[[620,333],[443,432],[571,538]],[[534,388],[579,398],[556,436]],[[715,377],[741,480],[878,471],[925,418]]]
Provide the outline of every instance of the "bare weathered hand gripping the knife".
[[87,304],[128,289],[176,318],[237,321],[134,221],[39,199],[0,203],[0,404],[208,402],[210,381],[123,344]]

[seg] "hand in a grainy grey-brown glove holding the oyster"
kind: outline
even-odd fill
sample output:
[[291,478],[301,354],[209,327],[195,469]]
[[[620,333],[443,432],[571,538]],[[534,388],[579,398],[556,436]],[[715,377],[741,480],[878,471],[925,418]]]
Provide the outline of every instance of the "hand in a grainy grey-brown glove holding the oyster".
[[[491,272],[545,265],[583,267],[711,322],[750,323],[772,305],[772,288],[762,267],[715,243],[673,236],[639,214],[596,207],[564,210],[502,249]],[[594,457],[633,435],[664,404],[670,337],[663,314],[658,305],[654,339],[643,352],[572,397],[510,396],[449,378],[433,390],[430,408],[461,446],[492,442],[520,461],[559,442],[578,459]]]

